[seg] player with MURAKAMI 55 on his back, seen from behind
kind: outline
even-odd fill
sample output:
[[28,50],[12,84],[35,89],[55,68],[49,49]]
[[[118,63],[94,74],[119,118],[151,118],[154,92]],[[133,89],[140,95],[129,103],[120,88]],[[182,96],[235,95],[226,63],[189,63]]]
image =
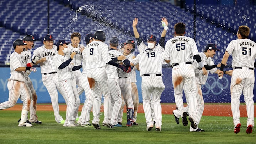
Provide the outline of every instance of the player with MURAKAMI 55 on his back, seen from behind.
[[189,95],[189,109],[190,113],[189,121],[191,122],[192,128],[196,129],[197,125],[194,121],[195,110],[196,110],[196,96],[195,96],[195,73],[192,67],[193,56],[198,62],[199,66],[203,70],[203,74],[206,75],[207,71],[204,68],[201,57],[198,54],[197,46],[192,38],[186,37],[185,35],[185,24],[176,23],[174,25],[175,37],[168,40],[164,50],[164,60],[166,63],[171,62],[172,69],[172,84],[174,86],[174,98],[175,103],[178,106],[180,115],[182,115],[183,125],[187,125],[187,113],[183,110],[183,99],[182,91],[183,86],[187,89]]

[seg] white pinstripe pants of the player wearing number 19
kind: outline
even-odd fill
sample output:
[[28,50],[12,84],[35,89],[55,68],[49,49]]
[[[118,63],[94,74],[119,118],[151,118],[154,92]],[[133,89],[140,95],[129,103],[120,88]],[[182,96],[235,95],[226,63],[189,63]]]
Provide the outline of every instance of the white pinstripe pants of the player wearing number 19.
[[142,98],[143,98],[143,109],[145,112],[145,118],[147,127],[153,125],[152,115],[151,115],[151,107],[150,100],[152,94],[152,102],[154,105],[155,111],[155,126],[162,126],[162,107],[160,104],[161,94],[165,89],[165,85],[162,81],[161,76],[156,76],[156,74],[150,74],[150,76],[142,77]]

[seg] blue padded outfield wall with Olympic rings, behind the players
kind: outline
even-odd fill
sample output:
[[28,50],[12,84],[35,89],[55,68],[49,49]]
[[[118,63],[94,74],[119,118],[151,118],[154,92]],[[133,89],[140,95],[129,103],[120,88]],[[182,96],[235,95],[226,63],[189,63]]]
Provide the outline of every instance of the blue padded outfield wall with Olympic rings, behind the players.
[[[36,67],[37,72],[31,72],[30,78],[34,85],[34,88],[37,93],[37,103],[51,103],[50,96],[47,92],[47,89],[44,87],[42,82],[42,76],[40,74],[40,67]],[[162,103],[174,103],[174,90],[172,85],[172,68],[162,68],[163,71],[163,80],[165,84],[165,90],[161,96]],[[8,88],[7,82],[10,77],[10,68],[9,67],[0,67],[0,103],[8,100]],[[230,81],[231,76],[225,75],[222,79],[218,79],[217,74],[209,74],[207,83],[202,87],[203,98],[205,103],[230,103]],[[141,95],[141,77],[139,76],[139,71],[137,71],[137,87],[139,93],[139,102],[142,103]],[[256,95],[256,88],[254,87],[254,95]],[[185,96],[183,96],[185,100]],[[80,95],[81,103],[84,103],[85,94]],[[243,96],[240,98],[241,102],[244,102]],[[256,102],[256,96],[254,96],[254,102]],[[19,99],[18,103],[22,103]],[[65,103],[65,100],[59,93],[59,103]]]

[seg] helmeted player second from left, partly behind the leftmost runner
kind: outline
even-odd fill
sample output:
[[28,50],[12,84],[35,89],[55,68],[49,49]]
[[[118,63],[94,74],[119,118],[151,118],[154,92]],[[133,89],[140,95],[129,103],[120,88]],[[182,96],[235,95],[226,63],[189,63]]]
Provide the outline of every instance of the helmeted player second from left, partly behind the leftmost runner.
[[[27,63],[28,66],[33,66],[34,64],[36,65],[37,63],[44,62],[46,60],[45,58],[42,58],[42,59],[38,60],[36,63],[34,63],[34,61],[31,62],[31,51],[30,51],[30,49],[32,49],[34,47],[34,41],[36,41],[36,40],[34,39],[33,35],[26,35],[25,37],[23,37],[23,40],[27,45],[24,45],[25,49],[21,53],[21,56],[23,58],[23,61],[25,63]],[[35,71],[36,71],[36,69],[34,68],[34,72]],[[37,115],[36,115],[37,95],[36,95],[36,91],[34,90],[32,81],[28,77],[30,75],[30,72],[31,71],[26,71],[25,75],[24,75],[27,89],[31,94],[30,120],[27,121],[27,122],[42,124],[41,121],[38,121]]]

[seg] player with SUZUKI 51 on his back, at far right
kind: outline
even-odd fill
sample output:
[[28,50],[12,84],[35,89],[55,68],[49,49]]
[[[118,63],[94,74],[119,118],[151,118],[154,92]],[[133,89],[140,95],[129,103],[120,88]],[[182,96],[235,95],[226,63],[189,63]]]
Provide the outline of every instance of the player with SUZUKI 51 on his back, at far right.
[[246,133],[252,133],[254,126],[254,62],[256,59],[256,43],[248,39],[250,28],[239,26],[236,33],[237,40],[232,40],[223,55],[219,76],[224,74],[225,63],[232,55],[232,68],[234,69],[231,77],[231,110],[234,122],[234,133],[240,132],[240,96],[243,93],[247,110],[247,129]]

